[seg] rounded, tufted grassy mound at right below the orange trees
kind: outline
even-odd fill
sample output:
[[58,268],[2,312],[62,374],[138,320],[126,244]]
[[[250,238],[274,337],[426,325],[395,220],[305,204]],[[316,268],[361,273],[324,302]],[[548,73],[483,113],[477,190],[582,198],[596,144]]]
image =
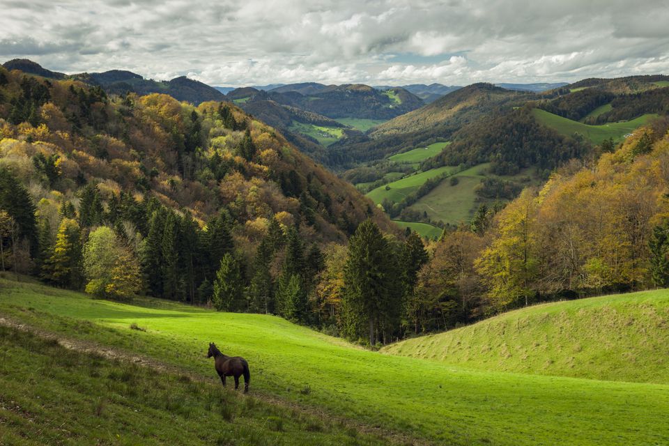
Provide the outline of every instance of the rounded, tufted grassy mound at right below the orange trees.
[[387,346],[483,370],[669,383],[669,291],[536,305]]

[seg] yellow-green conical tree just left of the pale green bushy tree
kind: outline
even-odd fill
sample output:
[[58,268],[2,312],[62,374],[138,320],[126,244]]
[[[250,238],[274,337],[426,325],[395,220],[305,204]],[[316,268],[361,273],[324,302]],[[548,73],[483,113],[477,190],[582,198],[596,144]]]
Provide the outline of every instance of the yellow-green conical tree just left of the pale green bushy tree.
[[64,218],[58,229],[51,257],[46,261],[45,279],[70,289],[82,286],[81,231],[75,220]]

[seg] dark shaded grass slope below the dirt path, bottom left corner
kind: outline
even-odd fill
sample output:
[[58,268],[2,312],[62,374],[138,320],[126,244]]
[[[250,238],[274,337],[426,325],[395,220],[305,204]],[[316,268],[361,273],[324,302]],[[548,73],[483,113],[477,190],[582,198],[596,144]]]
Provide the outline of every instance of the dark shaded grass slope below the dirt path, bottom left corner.
[[342,424],[238,398],[217,380],[80,353],[0,326],[3,445],[382,445]]

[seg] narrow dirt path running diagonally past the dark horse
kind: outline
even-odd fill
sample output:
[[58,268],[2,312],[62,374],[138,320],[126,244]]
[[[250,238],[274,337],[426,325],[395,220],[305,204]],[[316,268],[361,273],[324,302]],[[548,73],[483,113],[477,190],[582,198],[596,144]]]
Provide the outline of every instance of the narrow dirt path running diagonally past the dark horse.
[[[33,327],[31,325],[15,321],[12,318],[7,318],[6,316],[0,315],[0,325],[9,328],[14,328],[15,330],[21,330],[23,332],[29,332],[37,337],[40,337],[41,339],[57,341],[61,346],[68,348],[68,350],[73,350],[81,353],[97,354],[109,360],[132,362],[141,367],[148,367],[161,373],[171,373],[171,374],[188,376],[191,380],[198,381],[201,383],[206,383],[211,385],[220,384],[220,380],[218,378],[216,379],[206,378],[199,374],[194,374],[192,371],[187,371],[185,369],[177,367],[173,364],[167,364],[165,362],[155,360],[153,357],[137,355],[134,353],[130,353],[128,351],[123,351],[119,348],[101,346],[100,344],[95,344],[92,341],[85,341],[82,339],[73,339],[71,337],[65,337],[62,334],[49,332],[47,330],[43,330],[42,328]],[[234,391],[231,390],[231,392]],[[277,399],[267,394],[254,393],[253,395],[249,395],[238,392],[237,396],[239,398],[258,399],[265,403],[272,404],[272,406],[279,406],[284,409],[295,410],[304,415],[316,416],[325,422],[344,424],[344,426],[346,426],[347,428],[353,428],[359,431],[360,433],[381,437],[383,440],[387,441],[387,443],[391,445],[415,445],[415,446],[433,445],[433,443],[430,443],[426,440],[419,440],[416,438],[412,438],[410,436],[406,436],[405,434],[402,433],[390,432],[385,429],[381,429],[380,427],[361,424],[348,418],[337,417],[330,413],[326,413],[324,410],[319,408],[299,406],[298,404],[292,403],[291,401]]]

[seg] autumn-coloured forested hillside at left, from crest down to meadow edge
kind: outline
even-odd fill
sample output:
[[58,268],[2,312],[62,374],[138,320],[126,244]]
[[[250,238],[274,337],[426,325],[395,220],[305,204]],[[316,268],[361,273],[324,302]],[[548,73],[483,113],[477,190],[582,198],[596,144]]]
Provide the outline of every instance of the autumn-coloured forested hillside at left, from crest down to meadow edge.
[[228,103],[107,95],[3,68],[0,184],[3,270],[300,321],[323,247],[345,249],[363,220],[396,230]]

